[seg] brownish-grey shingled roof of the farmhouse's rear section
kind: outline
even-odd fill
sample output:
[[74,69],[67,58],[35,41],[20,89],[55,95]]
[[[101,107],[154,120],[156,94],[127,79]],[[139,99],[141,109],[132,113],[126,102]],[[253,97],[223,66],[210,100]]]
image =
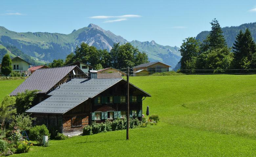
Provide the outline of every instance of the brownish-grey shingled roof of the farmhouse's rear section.
[[[75,67],[77,66],[37,69],[19,87],[14,89],[10,95],[17,95],[26,89],[37,89],[40,90],[39,93],[46,93]],[[79,67],[77,68],[80,69]]]

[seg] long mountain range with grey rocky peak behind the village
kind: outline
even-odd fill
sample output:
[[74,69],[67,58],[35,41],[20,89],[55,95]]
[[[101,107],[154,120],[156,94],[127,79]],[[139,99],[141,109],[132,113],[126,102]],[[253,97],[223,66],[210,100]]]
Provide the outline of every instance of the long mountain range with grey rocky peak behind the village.
[[[117,36],[109,30],[104,30],[97,25],[89,24],[88,27],[73,30],[70,34],[48,32],[19,33],[0,27],[0,42],[4,46],[12,45],[40,60],[53,61],[53,59],[65,59],[82,42],[95,46],[97,49],[110,51],[114,43],[127,43],[121,36]],[[162,46],[154,41],[130,42],[140,51],[145,51],[150,61],[162,61],[175,66],[181,58],[178,47]]]

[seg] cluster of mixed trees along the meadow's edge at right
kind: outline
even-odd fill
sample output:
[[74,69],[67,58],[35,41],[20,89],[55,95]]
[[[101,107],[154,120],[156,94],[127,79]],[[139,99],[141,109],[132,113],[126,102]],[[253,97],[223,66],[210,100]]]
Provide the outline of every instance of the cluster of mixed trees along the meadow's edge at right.
[[[188,37],[181,45],[183,73],[245,73],[255,72],[256,44],[249,29],[240,30],[234,46],[228,48],[220,24],[213,19],[210,34],[203,42]],[[236,69],[236,70],[231,70]],[[242,69],[242,70],[237,70]]]

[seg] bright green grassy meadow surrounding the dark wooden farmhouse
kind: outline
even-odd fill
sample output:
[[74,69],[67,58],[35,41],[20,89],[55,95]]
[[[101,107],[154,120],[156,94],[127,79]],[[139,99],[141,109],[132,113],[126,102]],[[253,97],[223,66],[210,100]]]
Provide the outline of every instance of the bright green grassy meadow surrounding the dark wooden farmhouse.
[[[51,140],[14,156],[256,156],[256,75],[130,77],[152,97],[160,123],[147,128]],[[1,96],[20,80],[1,83]],[[2,87],[5,86],[5,94]],[[12,88],[7,90],[7,88]]]

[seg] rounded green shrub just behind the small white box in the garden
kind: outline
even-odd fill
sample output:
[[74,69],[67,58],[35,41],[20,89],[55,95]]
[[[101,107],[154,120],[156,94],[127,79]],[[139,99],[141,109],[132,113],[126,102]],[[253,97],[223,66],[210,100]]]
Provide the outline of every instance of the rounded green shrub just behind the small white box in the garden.
[[39,145],[42,145],[43,136],[50,138],[51,134],[45,125],[34,126],[29,130],[29,137],[31,140],[36,140]]

